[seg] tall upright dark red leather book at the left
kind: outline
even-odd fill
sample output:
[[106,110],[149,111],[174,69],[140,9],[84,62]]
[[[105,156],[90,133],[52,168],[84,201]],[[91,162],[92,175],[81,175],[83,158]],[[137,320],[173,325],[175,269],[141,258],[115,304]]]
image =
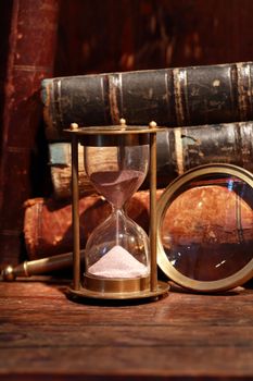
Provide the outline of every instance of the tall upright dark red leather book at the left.
[[17,263],[23,202],[33,194],[31,153],[42,121],[39,88],[52,75],[59,0],[14,0],[4,84],[0,163],[0,266]]

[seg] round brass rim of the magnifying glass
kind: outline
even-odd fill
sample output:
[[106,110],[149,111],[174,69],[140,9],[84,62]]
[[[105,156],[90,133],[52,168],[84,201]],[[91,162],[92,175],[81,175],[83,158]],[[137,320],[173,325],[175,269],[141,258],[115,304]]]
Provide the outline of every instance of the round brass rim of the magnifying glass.
[[198,180],[206,174],[229,174],[233,175],[242,181],[244,181],[246,184],[249,184],[251,187],[253,187],[253,174],[245,169],[239,168],[237,165],[232,164],[205,164],[195,167],[194,169],[187,171],[181,176],[177,177],[173,183],[170,183],[164,193],[162,194],[161,198],[157,201],[157,265],[161,268],[161,270],[175,283],[193,290],[193,291],[200,291],[200,292],[216,292],[216,291],[225,291],[232,287],[236,287],[238,285],[243,284],[244,282],[249,281],[253,276],[253,259],[250,260],[250,262],[244,266],[241,270],[236,272],[235,274],[224,278],[223,280],[218,281],[197,281],[193,279],[190,279],[186,275],[182,275],[179,271],[175,269],[175,267],[169,262],[161,239],[161,226],[163,223],[163,219],[165,216],[165,212],[172,202],[172,200],[175,198],[175,195],[179,192],[179,189],[187,185],[192,180]]

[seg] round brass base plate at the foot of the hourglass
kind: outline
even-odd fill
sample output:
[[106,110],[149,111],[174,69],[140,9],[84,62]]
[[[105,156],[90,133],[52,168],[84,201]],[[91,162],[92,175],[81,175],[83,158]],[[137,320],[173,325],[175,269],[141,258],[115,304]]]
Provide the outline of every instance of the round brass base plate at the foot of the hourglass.
[[152,299],[157,298],[161,295],[165,295],[169,291],[169,284],[165,282],[157,282],[155,291],[144,290],[137,292],[125,293],[101,293],[90,291],[85,287],[80,290],[68,288],[69,296],[78,298],[93,298],[93,299],[106,299],[106,300],[135,300],[135,299]]

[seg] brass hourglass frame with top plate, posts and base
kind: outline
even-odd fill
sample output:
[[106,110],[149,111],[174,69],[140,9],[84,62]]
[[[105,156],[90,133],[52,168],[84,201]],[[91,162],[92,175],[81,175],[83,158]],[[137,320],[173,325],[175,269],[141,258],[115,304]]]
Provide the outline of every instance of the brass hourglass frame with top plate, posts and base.
[[[68,293],[75,297],[90,297],[97,299],[138,299],[156,298],[167,293],[169,285],[157,281],[156,265],[156,133],[164,128],[156,127],[155,122],[149,126],[126,126],[125,120],[121,120],[117,126],[81,127],[73,123],[65,132],[71,135],[72,142],[72,218],[73,218],[73,285]],[[99,279],[94,287],[84,286],[80,281],[80,232],[79,232],[79,188],[78,188],[78,143],[84,146],[93,144],[97,146],[113,145],[122,136],[124,142],[135,144],[149,142],[150,146],[150,276],[149,284],[143,282],[121,280],[111,281],[107,287],[106,280]],[[150,138],[148,138],[150,137]],[[146,282],[147,283],[147,282]]]

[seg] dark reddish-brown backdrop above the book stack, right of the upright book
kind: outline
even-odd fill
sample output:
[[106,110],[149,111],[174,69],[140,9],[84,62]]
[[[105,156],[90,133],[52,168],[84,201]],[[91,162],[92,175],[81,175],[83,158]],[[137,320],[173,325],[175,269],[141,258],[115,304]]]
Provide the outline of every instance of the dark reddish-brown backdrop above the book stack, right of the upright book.
[[65,0],[55,75],[251,61],[251,0]]

